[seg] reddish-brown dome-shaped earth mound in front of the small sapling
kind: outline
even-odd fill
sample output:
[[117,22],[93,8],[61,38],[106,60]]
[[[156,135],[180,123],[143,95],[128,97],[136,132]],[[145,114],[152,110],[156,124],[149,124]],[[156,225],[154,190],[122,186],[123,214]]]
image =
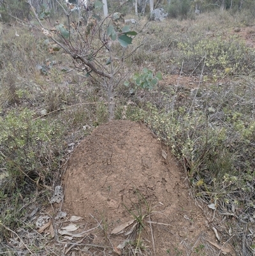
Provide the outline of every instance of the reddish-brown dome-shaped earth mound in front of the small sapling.
[[[110,232],[142,209],[140,255],[221,255],[207,242],[217,243],[211,217],[191,199],[184,171],[143,124],[112,121],[96,128],[71,156],[63,185],[62,211],[82,216],[84,230],[101,227],[89,237],[105,250],[88,247],[87,253],[132,255],[138,230],[129,236]],[[133,246],[116,248],[126,239]]]

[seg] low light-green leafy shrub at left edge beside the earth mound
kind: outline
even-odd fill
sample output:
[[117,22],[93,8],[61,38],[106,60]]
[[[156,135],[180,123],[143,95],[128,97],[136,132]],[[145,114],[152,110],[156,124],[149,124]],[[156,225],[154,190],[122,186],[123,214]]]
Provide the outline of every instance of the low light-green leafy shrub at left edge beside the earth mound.
[[0,117],[0,169],[4,170],[4,193],[31,192],[37,184],[47,184],[58,166],[61,132],[56,123],[33,120],[34,112],[12,110]]

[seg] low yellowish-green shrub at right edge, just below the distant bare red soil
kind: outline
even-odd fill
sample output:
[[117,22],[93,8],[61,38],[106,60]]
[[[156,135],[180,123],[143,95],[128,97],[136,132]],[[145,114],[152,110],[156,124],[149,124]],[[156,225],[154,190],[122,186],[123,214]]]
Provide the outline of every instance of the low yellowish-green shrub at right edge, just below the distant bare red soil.
[[205,73],[221,72],[222,75],[249,74],[254,70],[255,52],[247,47],[245,41],[237,36],[224,39],[197,38],[197,40],[182,41],[178,45],[186,66],[196,66],[205,59]]

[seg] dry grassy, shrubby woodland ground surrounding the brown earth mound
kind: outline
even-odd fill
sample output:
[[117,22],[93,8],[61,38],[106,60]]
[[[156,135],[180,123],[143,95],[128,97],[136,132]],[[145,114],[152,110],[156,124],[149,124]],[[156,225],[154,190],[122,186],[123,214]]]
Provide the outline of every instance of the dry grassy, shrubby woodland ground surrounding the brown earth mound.
[[[217,11],[146,22],[133,27],[143,29],[129,50],[143,44],[126,59],[130,83],[115,91],[115,119],[142,122],[169,146],[193,199],[224,216],[221,234],[237,255],[254,255],[255,20]],[[38,234],[31,218],[73,149],[108,121],[107,97],[40,31],[0,23],[0,39],[0,254],[54,255],[48,237],[22,241]],[[143,68],[163,80],[135,87]]]

